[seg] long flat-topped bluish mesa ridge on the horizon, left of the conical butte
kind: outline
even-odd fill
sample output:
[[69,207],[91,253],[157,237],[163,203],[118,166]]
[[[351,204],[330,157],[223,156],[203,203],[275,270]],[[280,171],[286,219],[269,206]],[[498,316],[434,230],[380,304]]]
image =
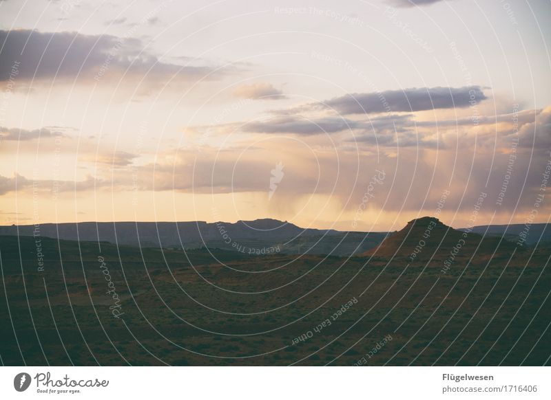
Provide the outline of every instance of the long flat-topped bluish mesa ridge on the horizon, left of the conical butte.
[[244,254],[332,254],[365,252],[386,232],[339,232],[302,228],[287,221],[256,219],[236,223],[81,222],[0,226],[0,235],[39,236],[67,241],[108,242],[165,249],[226,249]]

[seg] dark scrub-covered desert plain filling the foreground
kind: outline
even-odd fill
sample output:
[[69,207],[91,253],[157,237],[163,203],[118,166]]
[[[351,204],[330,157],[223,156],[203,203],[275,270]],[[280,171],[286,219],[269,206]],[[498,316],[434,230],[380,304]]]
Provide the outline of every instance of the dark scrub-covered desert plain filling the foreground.
[[0,236],[1,362],[549,365],[549,249],[475,247],[443,270],[452,234],[412,261],[403,236],[353,257]]

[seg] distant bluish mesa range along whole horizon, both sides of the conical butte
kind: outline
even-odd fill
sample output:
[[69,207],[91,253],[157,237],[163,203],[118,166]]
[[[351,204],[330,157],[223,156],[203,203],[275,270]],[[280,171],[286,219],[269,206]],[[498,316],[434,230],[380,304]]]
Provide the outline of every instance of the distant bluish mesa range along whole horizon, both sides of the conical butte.
[[[403,230],[390,232],[340,232],[302,228],[287,221],[256,219],[236,223],[205,221],[190,222],[81,222],[44,223],[40,225],[0,226],[0,235],[40,236],[68,241],[109,242],[118,245],[141,247],[199,249],[229,249],[244,254],[331,254],[344,256],[362,254],[380,245],[377,254],[389,256],[396,246],[409,249],[418,245],[420,236],[428,225],[435,224],[433,238],[446,236],[445,241],[458,241],[466,228],[453,230],[438,219],[422,217],[410,221]],[[423,232],[417,232],[422,230]],[[451,230],[452,232],[448,232]],[[526,233],[523,224],[483,225],[473,227],[472,234],[504,236],[508,241],[517,241],[519,234]],[[417,232],[417,233],[416,233]],[[388,237],[385,243],[384,238]],[[412,238],[405,240],[406,236]],[[417,237],[419,236],[419,237]],[[456,237],[457,236],[457,237]],[[410,243],[410,241],[412,241]],[[548,224],[532,224],[526,234],[526,244],[551,242]],[[442,243],[445,244],[445,243]]]

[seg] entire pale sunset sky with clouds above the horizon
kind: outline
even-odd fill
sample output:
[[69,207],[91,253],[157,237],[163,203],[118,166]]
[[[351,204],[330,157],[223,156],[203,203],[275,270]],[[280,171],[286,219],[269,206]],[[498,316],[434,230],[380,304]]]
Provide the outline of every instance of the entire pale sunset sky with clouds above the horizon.
[[0,224],[548,222],[548,0],[0,1]]

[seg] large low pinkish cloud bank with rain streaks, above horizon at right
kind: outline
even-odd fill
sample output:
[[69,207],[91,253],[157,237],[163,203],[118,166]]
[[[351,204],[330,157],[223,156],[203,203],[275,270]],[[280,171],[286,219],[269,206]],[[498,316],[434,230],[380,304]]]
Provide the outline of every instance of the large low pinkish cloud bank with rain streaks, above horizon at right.
[[[539,118],[537,129],[545,127],[546,121],[547,118]],[[501,131],[499,134],[502,134]],[[435,150],[435,138],[423,137],[424,143],[420,143],[420,138],[404,133],[398,140],[400,150],[397,159],[388,157],[385,151],[377,157],[375,146],[368,143],[365,143],[366,148],[360,148],[360,153],[357,148],[343,148],[335,144],[331,151],[310,154],[304,153],[301,146],[293,148],[288,140],[280,138],[280,142],[270,141],[264,147],[245,152],[238,148],[222,152],[216,148],[204,148],[198,157],[191,150],[178,151],[176,156],[163,157],[167,161],[138,167],[136,176],[138,190],[175,190],[196,194],[261,193],[268,192],[271,170],[282,162],[285,165],[285,179],[278,186],[274,201],[284,199],[293,202],[301,196],[321,195],[333,197],[344,208],[355,209],[362,201],[369,179],[378,169],[384,170],[387,177],[384,184],[377,187],[376,197],[370,199],[369,208],[384,208],[387,212],[403,208],[406,211],[426,210],[432,213],[441,192],[450,189],[453,197],[446,201],[446,210],[470,213],[471,199],[476,199],[483,191],[493,198],[492,201],[488,199],[485,210],[495,206],[495,198],[508,174],[510,153],[506,151],[511,150],[512,142],[504,139],[497,147],[480,146],[478,143],[484,140],[491,144],[491,139],[492,135],[485,135],[477,141],[463,140],[459,148],[443,148],[439,143],[439,150]],[[391,135],[384,135],[382,140],[388,141],[388,146],[395,142]],[[507,201],[499,210],[516,209],[516,212],[522,212],[533,205],[533,193],[537,192],[541,173],[550,159],[549,148],[547,146],[545,151],[532,153],[531,148],[517,147],[513,173],[508,178]],[[114,179],[121,184],[125,179],[124,171],[116,171]],[[430,197],[427,198],[428,193]],[[349,197],[351,202],[345,206]],[[517,207],[518,199],[520,203]]]

